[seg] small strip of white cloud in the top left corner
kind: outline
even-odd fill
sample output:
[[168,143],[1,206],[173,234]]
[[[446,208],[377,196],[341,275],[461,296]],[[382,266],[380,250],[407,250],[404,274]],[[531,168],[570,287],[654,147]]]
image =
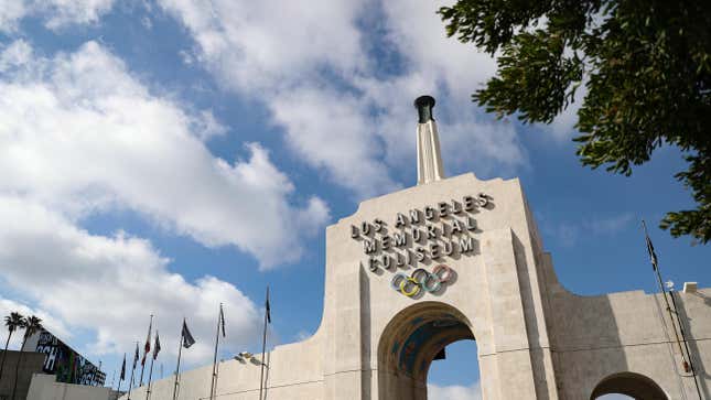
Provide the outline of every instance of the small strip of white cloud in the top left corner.
[[25,17],[40,17],[46,28],[98,22],[114,0],[11,0],[0,2],[0,32],[14,32]]

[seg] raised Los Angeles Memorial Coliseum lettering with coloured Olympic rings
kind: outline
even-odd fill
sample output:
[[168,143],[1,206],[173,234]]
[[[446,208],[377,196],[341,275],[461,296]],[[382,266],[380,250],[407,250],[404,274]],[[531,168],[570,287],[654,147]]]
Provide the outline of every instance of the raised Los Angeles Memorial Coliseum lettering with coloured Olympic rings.
[[[448,259],[471,256],[478,247],[474,213],[487,209],[492,197],[480,193],[461,201],[440,202],[397,213],[391,224],[383,219],[364,220],[351,226],[351,238],[362,241],[367,268],[396,272],[416,268],[412,275],[397,272],[392,288],[405,295],[441,290],[454,273]],[[432,272],[423,266],[434,264]]]

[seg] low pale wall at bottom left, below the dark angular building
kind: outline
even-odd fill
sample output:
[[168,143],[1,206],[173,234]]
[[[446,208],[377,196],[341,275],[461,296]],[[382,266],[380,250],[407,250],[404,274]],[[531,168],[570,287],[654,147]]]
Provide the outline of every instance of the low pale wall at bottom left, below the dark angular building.
[[110,400],[111,389],[98,386],[71,385],[54,381],[53,375],[35,374],[30,383],[28,400]]

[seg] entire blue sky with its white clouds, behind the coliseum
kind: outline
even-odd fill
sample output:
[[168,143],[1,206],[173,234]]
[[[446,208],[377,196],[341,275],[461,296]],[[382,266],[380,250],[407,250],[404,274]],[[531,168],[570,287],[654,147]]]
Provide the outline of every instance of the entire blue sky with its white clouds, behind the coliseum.
[[[656,228],[693,206],[679,151],[610,175],[577,160],[574,107],[551,126],[485,115],[468,96],[495,62],[444,37],[438,7],[3,2],[0,311],[39,314],[109,379],[150,313],[166,371],[183,316],[198,339],[186,361],[209,363],[219,302],[223,356],[258,349],[267,284],[270,342],[312,334],[324,227],[414,184],[421,94],[438,99],[449,175],[520,179],[568,289],[654,291],[642,218],[665,278],[707,287],[709,247]],[[475,398],[475,347],[456,346],[431,383]]]

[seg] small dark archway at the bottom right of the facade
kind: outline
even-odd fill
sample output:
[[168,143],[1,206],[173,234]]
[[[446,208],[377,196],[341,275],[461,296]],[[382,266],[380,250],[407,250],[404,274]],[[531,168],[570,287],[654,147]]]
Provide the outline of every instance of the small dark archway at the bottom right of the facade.
[[635,372],[613,374],[601,380],[590,396],[590,400],[612,393],[629,396],[633,399],[669,400],[654,380]]

